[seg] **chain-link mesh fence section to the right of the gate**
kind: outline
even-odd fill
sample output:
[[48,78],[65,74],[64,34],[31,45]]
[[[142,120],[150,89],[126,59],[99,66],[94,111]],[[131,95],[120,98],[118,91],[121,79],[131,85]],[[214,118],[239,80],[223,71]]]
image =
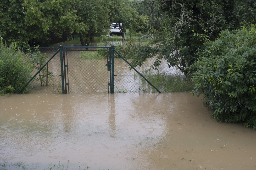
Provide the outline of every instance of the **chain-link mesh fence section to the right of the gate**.
[[[192,48],[193,55],[197,48]],[[182,92],[193,89],[193,83],[187,72],[181,67],[168,66],[166,60],[154,69],[156,57],[147,58],[142,66],[135,67],[147,80],[161,92]],[[132,59],[127,59],[129,62]],[[155,93],[157,92],[144,78],[133,70],[122,58],[115,58],[115,93]]]

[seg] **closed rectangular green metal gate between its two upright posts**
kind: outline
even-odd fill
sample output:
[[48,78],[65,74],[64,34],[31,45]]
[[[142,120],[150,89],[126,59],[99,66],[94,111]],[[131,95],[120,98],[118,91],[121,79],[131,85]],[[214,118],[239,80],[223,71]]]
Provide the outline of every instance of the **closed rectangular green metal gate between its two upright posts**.
[[60,46],[62,93],[112,93],[110,49]]

